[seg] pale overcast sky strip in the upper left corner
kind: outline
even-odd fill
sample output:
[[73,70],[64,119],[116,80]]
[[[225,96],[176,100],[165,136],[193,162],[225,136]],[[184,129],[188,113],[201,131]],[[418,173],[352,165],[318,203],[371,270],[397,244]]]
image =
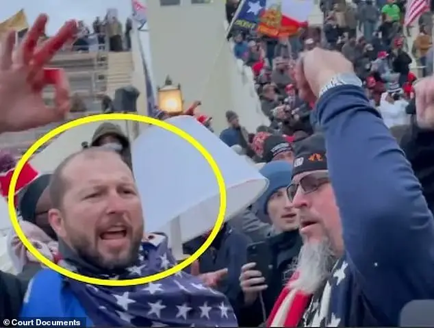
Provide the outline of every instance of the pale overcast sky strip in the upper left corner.
[[49,15],[47,34],[53,34],[68,19],[83,20],[88,25],[96,16],[103,17],[107,8],[117,8],[118,17],[125,22],[131,13],[131,0],[13,0],[1,1],[0,21],[24,8],[29,24],[38,14]]

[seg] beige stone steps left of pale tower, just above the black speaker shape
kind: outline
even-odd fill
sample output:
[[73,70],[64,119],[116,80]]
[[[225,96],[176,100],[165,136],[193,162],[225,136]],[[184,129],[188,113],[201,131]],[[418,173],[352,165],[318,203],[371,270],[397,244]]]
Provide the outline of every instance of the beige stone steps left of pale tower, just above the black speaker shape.
[[133,57],[130,51],[110,52],[108,53],[107,61],[106,94],[113,99],[116,89],[131,84]]

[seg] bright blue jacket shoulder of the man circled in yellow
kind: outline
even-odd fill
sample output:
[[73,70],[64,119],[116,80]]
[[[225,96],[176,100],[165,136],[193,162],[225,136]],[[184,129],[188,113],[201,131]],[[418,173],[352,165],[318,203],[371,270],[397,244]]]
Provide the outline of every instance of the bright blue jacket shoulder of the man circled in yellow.
[[[47,296],[47,297],[46,297]],[[20,318],[80,318],[92,327],[77,297],[64,285],[62,275],[44,269],[36,273],[27,288]]]

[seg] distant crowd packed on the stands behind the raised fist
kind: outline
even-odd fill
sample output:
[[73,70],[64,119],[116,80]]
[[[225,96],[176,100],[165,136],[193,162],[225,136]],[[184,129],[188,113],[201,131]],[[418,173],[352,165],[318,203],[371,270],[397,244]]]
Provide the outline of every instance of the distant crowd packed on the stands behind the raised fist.
[[[228,21],[239,3],[227,1]],[[268,130],[292,136],[298,131],[310,134],[316,126],[313,104],[301,101],[294,83],[299,54],[314,47],[340,51],[353,63],[367,96],[388,127],[408,124],[414,114],[414,106],[409,104],[416,77],[432,73],[433,18],[431,12],[424,12],[417,26],[405,28],[405,8],[405,1],[395,0],[321,1],[323,25],[303,27],[295,36],[276,39],[255,31],[232,31],[235,57],[250,66],[255,76],[262,112],[271,122]],[[419,32],[409,45],[411,29]],[[413,71],[412,56],[419,68]]]

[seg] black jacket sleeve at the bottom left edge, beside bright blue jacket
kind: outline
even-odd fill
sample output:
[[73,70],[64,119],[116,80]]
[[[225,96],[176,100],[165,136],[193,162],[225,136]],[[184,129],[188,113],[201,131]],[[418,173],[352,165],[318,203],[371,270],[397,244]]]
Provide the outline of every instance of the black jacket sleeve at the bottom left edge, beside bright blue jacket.
[[27,283],[9,273],[0,271],[0,322],[18,318]]

